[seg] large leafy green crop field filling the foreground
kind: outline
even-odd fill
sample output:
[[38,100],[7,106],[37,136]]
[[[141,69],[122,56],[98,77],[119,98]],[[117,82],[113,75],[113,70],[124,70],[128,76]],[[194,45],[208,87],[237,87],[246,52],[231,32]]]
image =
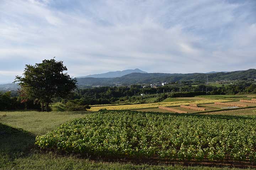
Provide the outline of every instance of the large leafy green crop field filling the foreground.
[[38,136],[36,145],[92,157],[255,163],[255,140],[255,115],[101,111]]

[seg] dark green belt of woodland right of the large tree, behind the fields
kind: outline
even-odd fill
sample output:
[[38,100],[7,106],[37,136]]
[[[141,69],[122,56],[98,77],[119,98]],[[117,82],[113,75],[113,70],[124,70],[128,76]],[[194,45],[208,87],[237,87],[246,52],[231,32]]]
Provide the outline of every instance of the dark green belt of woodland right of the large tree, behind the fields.
[[[143,94],[143,96],[141,96]],[[254,82],[242,81],[239,84],[223,85],[220,87],[212,85],[181,85],[170,84],[156,88],[142,87],[142,85],[120,86],[120,87],[94,87],[87,89],[76,89],[69,95],[69,100],[81,100],[85,104],[113,104],[113,103],[144,103],[146,98],[156,97],[156,101],[162,101],[167,97],[194,97],[197,95],[235,95],[256,94]]]

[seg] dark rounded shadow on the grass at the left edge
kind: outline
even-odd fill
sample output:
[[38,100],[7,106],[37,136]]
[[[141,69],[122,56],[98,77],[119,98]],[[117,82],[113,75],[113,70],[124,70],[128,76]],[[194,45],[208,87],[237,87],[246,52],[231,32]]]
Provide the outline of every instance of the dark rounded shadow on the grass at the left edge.
[[25,130],[0,123],[0,155],[9,159],[26,156],[34,148],[35,138]]

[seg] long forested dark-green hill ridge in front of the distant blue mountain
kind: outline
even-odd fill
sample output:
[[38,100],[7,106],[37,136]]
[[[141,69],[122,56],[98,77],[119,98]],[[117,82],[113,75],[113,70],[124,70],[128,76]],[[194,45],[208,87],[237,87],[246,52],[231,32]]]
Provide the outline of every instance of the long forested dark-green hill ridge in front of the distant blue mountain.
[[80,85],[111,85],[135,84],[135,83],[156,83],[176,81],[209,81],[219,80],[246,80],[256,79],[256,69],[249,69],[235,72],[219,73],[190,73],[190,74],[168,74],[168,73],[131,73],[118,78],[78,78]]

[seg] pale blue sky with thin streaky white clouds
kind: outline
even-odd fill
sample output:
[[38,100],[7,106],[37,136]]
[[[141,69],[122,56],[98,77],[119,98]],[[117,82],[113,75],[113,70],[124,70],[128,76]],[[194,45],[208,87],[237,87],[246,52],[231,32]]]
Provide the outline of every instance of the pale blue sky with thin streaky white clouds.
[[255,68],[256,0],[0,0],[0,83],[53,57],[73,77]]

